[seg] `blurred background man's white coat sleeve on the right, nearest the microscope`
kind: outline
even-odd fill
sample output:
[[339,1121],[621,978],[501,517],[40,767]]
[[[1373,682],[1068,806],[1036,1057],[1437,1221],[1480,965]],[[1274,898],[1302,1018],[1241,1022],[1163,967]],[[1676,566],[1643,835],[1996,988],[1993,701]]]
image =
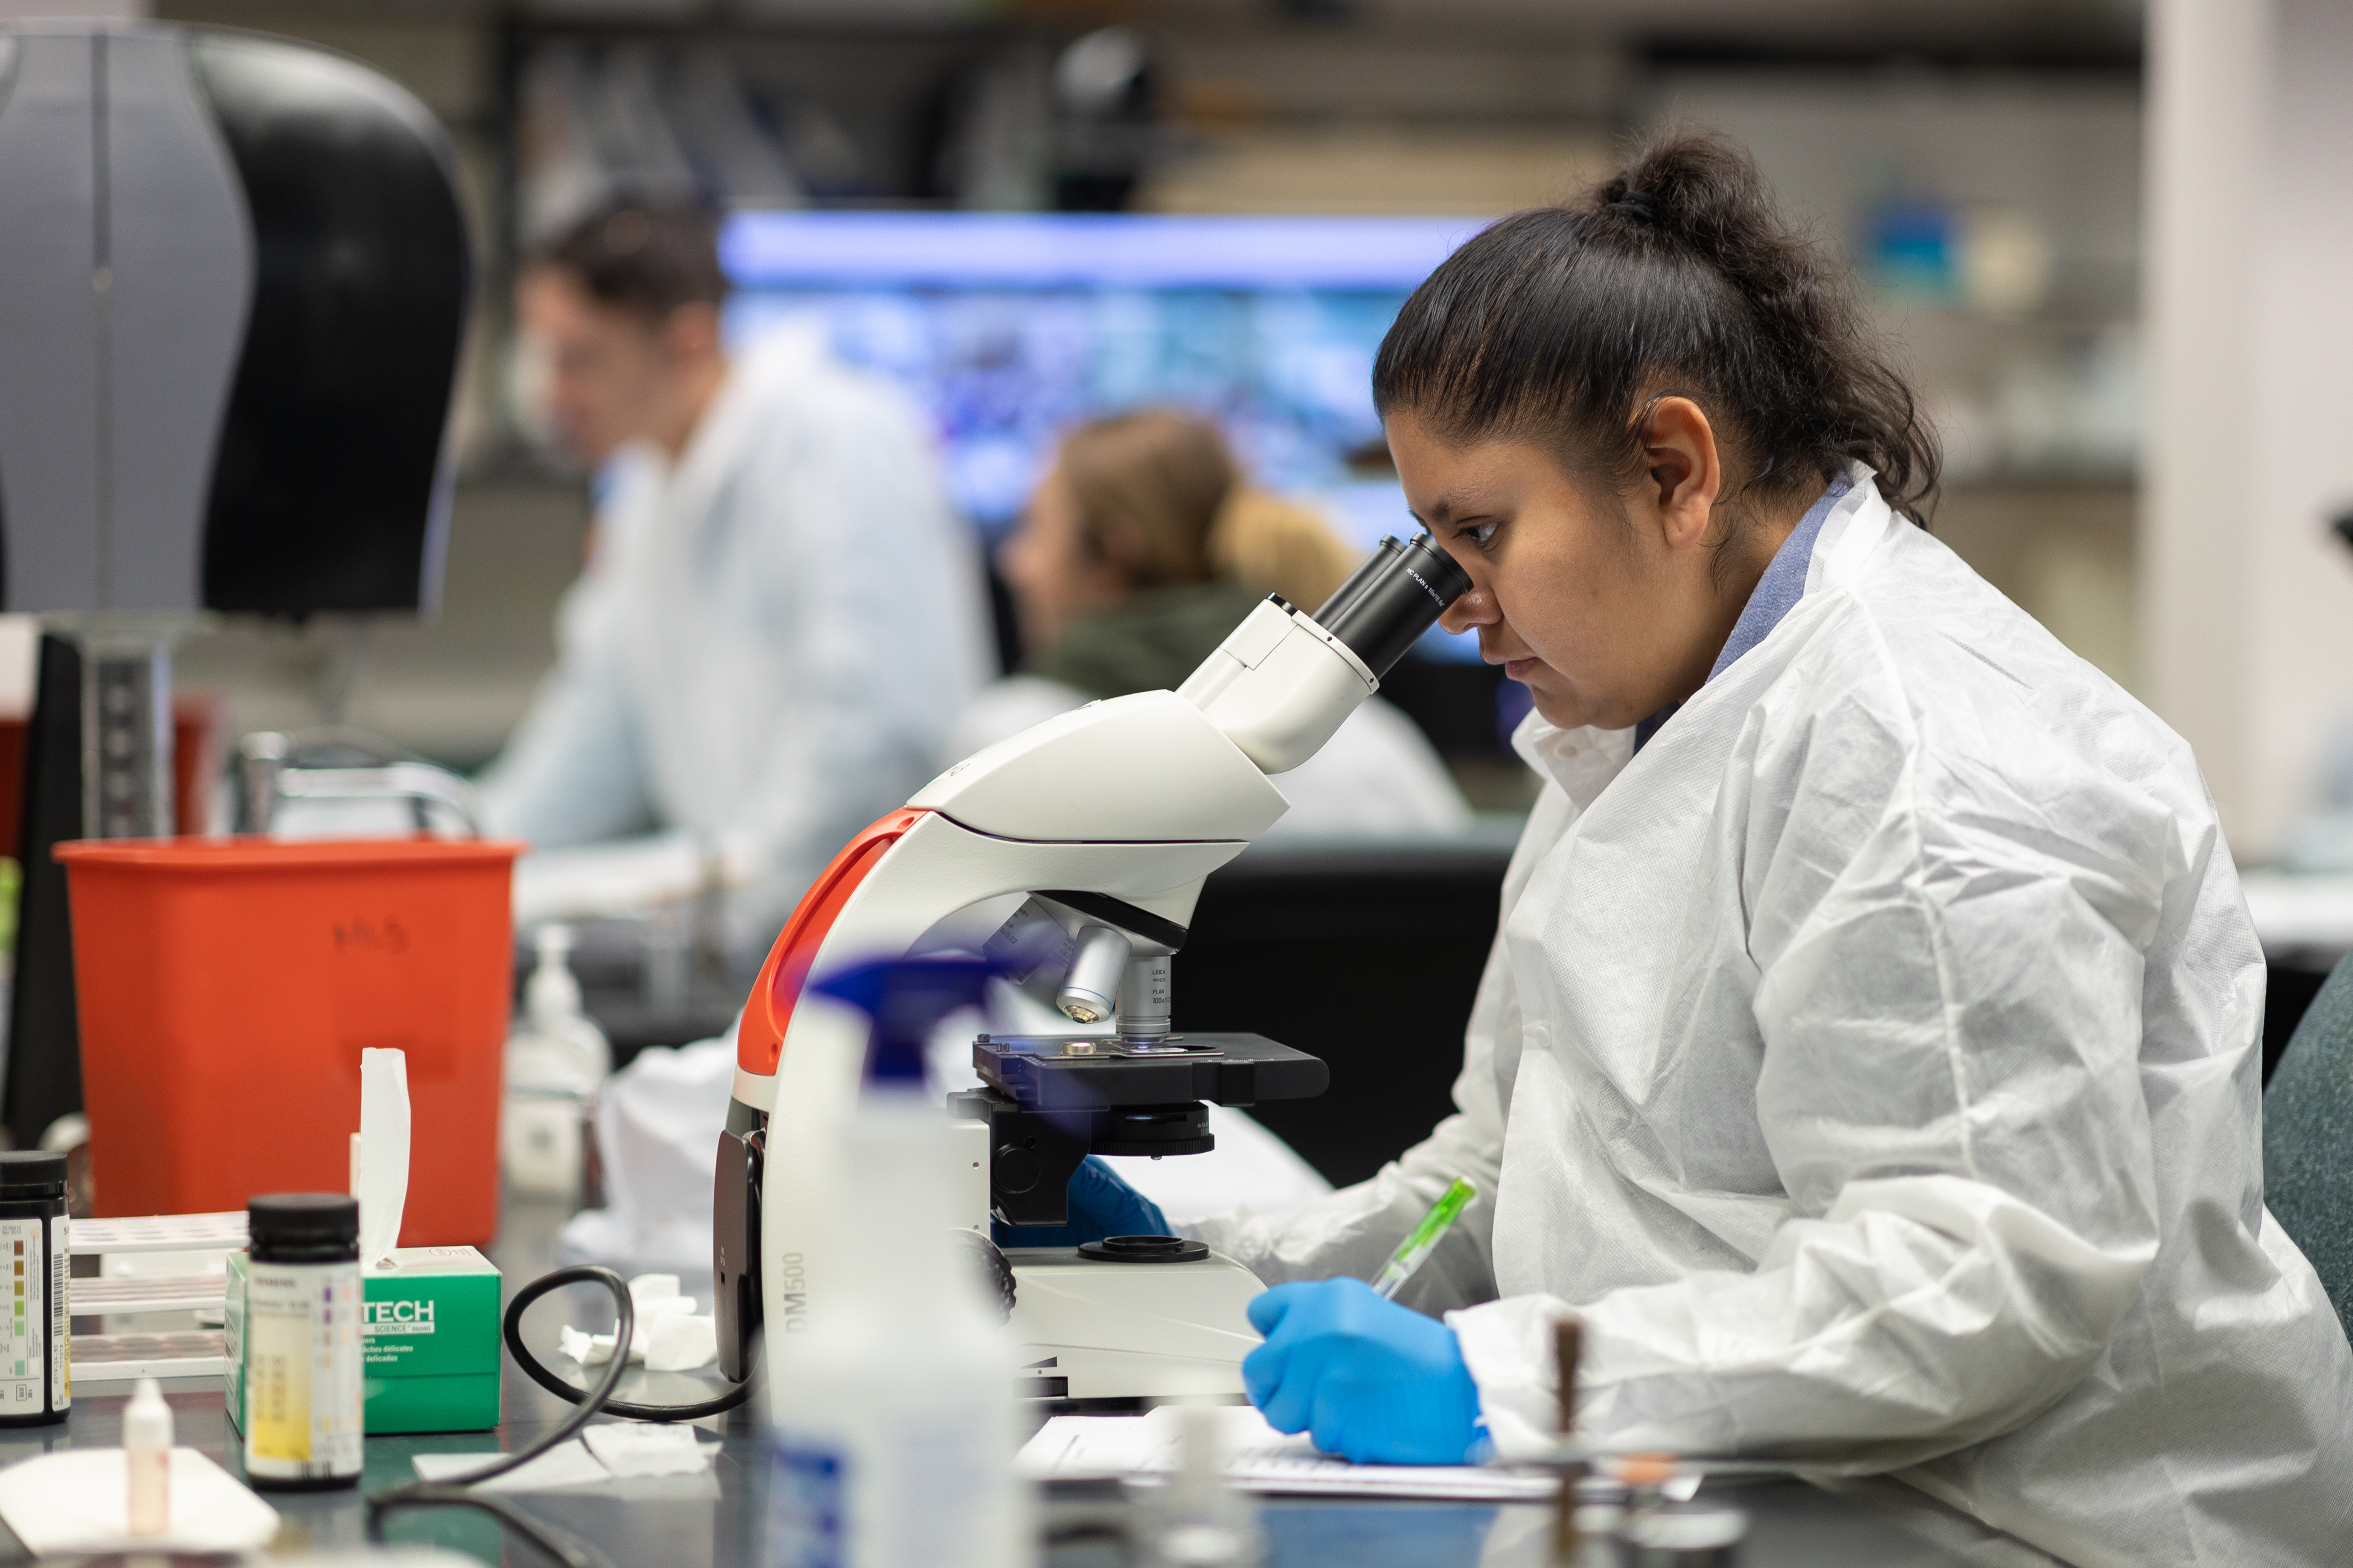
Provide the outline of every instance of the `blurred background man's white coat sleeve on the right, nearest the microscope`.
[[746,475],[793,693],[758,741],[760,788],[722,830],[760,867],[732,945],[765,945],[835,851],[936,771],[981,679],[976,548],[913,418],[854,383],[812,402],[800,437]]

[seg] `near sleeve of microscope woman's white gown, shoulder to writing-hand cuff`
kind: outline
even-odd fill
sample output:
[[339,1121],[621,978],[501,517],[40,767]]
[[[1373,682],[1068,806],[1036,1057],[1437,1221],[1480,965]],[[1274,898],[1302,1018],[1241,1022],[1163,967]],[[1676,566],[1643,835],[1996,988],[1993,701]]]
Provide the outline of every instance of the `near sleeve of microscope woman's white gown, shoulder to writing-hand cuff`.
[[[1579,1429],[1609,1448],[1861,1474],[2005,1434],[2099,1361],[2155,1258],[2141,959],[2165,882],[2224,851],[2064,757],[2042,797],[1967,748],[1944,766],[1922,722],[1885,689],[1833,701],[1725,827],[1748,844],[1758,1126],[1791,1218],[1751,1272],[1574,1307]],[[1449,1319],[1504,1455],[1553,1429],[1569,1309]]]

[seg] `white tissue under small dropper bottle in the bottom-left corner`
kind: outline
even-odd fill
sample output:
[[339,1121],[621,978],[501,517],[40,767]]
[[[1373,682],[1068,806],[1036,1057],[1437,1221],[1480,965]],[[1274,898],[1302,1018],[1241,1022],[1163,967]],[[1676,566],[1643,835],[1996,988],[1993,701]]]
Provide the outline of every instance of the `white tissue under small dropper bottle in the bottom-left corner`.
[[278,1509],[195,1448],[172,1450],[172,1526],[129,1533],[120,1448],[66,1448],[0,1469],[0,1521],[33,1556],[85,1552],[252,1552],[278,1535]]

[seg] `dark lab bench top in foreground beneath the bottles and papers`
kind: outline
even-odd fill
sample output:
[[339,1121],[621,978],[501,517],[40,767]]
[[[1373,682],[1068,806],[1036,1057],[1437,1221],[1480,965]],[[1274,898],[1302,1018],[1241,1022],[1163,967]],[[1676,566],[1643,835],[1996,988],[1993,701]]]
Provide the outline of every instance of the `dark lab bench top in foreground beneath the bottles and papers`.
[[[638,1382],[638,1378],[633,1378]],[[645,1380],[656,1382],[656,1380]],[[642,1387],[640,1399],[685,1399],[687,1380],[668,1389]],[[209,1380],[165,1385],[179,1441],[200,1448],[231,1472],[240,1472],[238,1436]],[[511,1385],[511,1410],[513,1410]],[[0,1462],[47,1448],[104,1448],[122,1441],[127,1396],[82,1396],[64,1427],[16,1429],[0,1439]],[[553,1422],[555,1401],[529,1389],[525,1410],[492,1434],[372,1436],[358,1490],[268,1493],[285,1519],[275,1552],[348,1552],[365,1540],[362,1495],[414,1481],[412,1455],[487,1453],[518,1448]],[[607,1488],[508,1493],[522,1507],[602,1552],[614,1568],[661,1563],[664,1568],[734,1568],[762,1563],[765,1465],[760,1439],[744,1413],[699,1422],[720,1439],[720,1453],[704,1476],[619,1481]],[[1113,1488],[1054,1488],[1045,1523],[1085,1526],[1115,1509]],[[1751,1514],[1741,1547],[1744,1568],[1944,1568],[1962,1559],[1920,1544],[1854,1505],[1800,1483],[1744,1486],[1727,1493]],[[1544,1507],[1494,1507],[1454,1502],[1369,1502],[1334,1497],[1268,1497],[1261,1507],[1271,1554],[1268,1568],[1541,1568],[1551,1540]],[[438,1544],[485,1563],[536,1563],[532,1547],[504,1542],[492,1519],[464,1509],[419,1509],[388,1516],[393,1542]],[[501,1547],[508,1547],[501,1552]],[[0,1530],[0,1561],[28,1561],[14,1537]],[[181,1559],[193,1561],[193,1559]],[[1115,1568],[1122,1554],[1094,1537],[1056,1547],[1047,1568]]]

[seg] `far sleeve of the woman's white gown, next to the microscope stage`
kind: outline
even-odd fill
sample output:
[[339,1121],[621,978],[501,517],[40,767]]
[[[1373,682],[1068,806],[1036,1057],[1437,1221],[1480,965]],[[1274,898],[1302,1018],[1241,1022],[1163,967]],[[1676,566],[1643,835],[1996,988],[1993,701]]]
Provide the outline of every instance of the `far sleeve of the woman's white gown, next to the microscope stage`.
[[[1548,788],[1529,813],[1527,832],[1504,875],[1504,917],[1527,886],[1534,860],[1574,816],[1569,799]],[[1454,1079],[1454,1114],[1377,1175],[1327,1199],[1280,1213],[1235,1208],[1186,1229],[1188,1237],[1249,1267],[1266,1284],[1292,1279],[1372,1279],[1421,1215],[1457,1178],[1478,1187],[1447,1239],[1428,1255],[1398,1300],[1421,1312],[1445,1312],[1494,1298],[1494,1194],[1504,1164],[1504,1110],[1520,1060],[1520,997],[1501,936],[1487,954],[1471,1025],[1464,1030],[1464,1070]]]

